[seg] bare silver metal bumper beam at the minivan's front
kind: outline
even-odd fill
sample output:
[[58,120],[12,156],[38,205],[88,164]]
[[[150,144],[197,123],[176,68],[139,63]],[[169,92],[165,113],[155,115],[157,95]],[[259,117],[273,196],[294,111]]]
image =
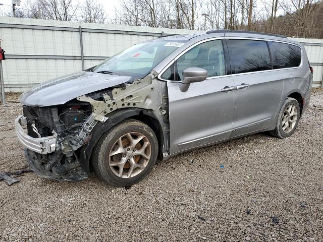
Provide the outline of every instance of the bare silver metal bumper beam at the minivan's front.
[[16,134],[20,142],[29,150],[40,154],[52,153],[56,150],[56,138],[54,136],[33,138],[25,133],[22,125],[27,125],[27,118],[20,115],[15,120]]

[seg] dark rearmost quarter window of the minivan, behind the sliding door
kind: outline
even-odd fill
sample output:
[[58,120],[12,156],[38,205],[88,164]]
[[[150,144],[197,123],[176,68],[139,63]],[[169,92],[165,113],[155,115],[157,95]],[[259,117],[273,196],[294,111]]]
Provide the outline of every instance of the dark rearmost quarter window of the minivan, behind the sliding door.
[[301,48],[280,42],[268,42],[272,51],[273,68],[298,67],[301,64]]

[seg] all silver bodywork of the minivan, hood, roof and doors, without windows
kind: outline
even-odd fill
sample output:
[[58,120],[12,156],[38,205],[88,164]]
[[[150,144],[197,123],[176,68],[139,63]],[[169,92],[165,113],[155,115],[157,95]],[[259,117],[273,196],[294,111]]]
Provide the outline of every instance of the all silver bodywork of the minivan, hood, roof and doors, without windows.
[[[192,83],[186,92],[180,91],[180,81],[168,81],[161,78],[168,67],[190,48],[206,41],[229,38],[277,41],[297,45],[302,50],[301,65],[295,68],[207,78],[202,82]],[[139,104],[137,107],[152,110],[164,134],[167,134],[166,139],[160,141],[165,147],[163,149],[165,159],[197,147],[273,130],[282,103],[292,93],[301,95],[304,103],[303,112],[308,105],[312,75],[306,51],[296,41],[258,33],[234,32],[178,35],[159,39],[189,41],[153,68],[149,74],[151,80],[147,82],[143,91],[136,90],[134,85],[138,83],[134,82],[127,85],[126,90],[123,91],[124,96],[115,93],[114,100],[117,100],[117,104],[112,111],[127,108],[127,106],[122,106],[121,100],[132,92],[140,93],[140,98],[136,100],[136,104]],[[30,106],[64,104],[88,93],[126,83],[130,78],[80,72],[35,86],[21,96],[21,102]],[[248,84],[248,87],[241,87],[243,84]],[[221,91],[225,87],[236,88],[228,92]],[[137,102],[139,100],[141,103]],[[110,104],[111,106],[112,103],[113,100],[105,100],[103,105]],[[166,110],[164,107],[167,107]],[[110,108],[106,106],[106,109],[100,109],[100,113],[97,114],[105,115],[105,111],[109,117],[109,110]],[[164,119],[167,112],[169,124]],[[109,122],[109,119],[106,122]]]

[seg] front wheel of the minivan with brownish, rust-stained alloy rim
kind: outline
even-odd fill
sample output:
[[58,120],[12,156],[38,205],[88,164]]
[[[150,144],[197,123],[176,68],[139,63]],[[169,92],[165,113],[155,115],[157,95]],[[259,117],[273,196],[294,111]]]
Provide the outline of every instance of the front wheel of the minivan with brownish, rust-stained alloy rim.
[[103,181],[125,187],[144,178],[157,155],[158,141],[152,129],[136,119],[127,119],[103,134],[92,165]]

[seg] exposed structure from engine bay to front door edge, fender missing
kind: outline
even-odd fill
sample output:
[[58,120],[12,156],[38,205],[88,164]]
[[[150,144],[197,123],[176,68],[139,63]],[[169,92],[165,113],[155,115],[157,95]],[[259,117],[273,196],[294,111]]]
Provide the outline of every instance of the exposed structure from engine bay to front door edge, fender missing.
[[[163,82],[153,78],[149,74],[132,83],[79,96],[63,105],[24,105],[28,135],[35,139],[53,137],[49,151],[39,153],[26,149],[27,160],[33,170],[42,177],[59,180],[87,178],[91,152],[100,136],[122,118],[141,115],[142,111],[162,126],[163,134],[159,135],[165,142],[160,153],[167,156],[167,88]],[[121,108],[124,110],[118,112],[117,109]]]

